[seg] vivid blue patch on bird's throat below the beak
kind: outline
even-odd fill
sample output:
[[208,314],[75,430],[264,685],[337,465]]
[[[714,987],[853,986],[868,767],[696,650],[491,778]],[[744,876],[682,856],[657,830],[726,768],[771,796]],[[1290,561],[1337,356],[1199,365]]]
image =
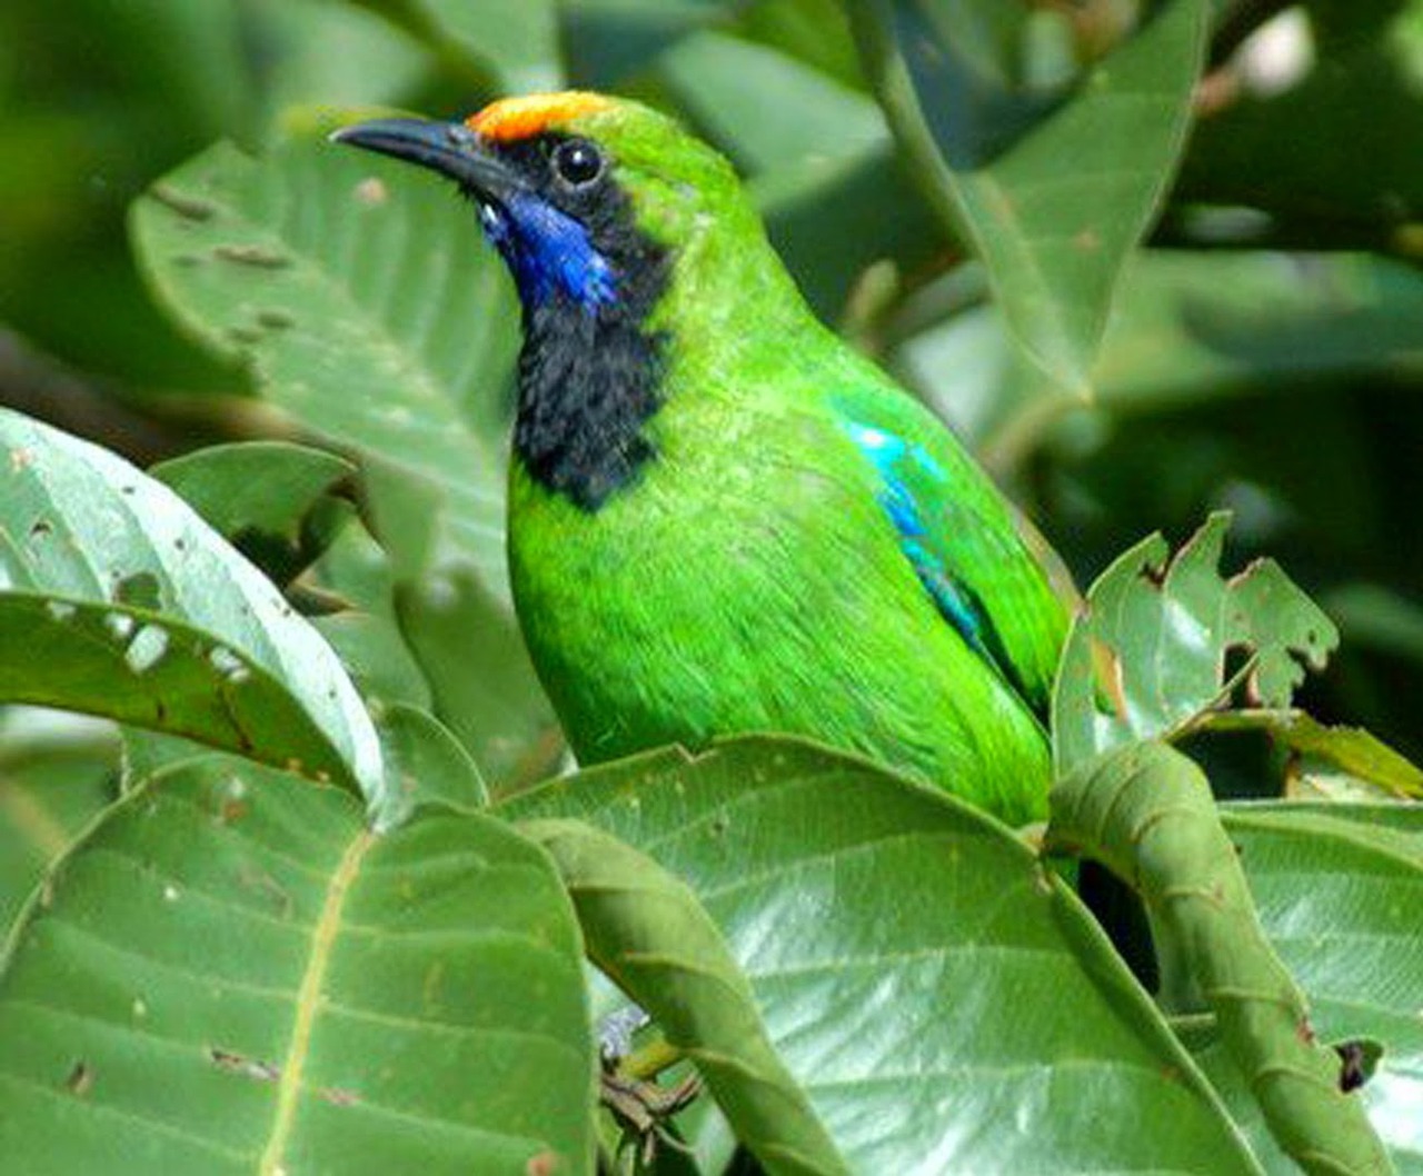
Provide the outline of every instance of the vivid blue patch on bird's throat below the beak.
[[544,306],[564,294],[592,310],[613,300],[613,267],[588,229],[549,202],[515,193],[499,208],[481,205],[480,220],[527,304]]

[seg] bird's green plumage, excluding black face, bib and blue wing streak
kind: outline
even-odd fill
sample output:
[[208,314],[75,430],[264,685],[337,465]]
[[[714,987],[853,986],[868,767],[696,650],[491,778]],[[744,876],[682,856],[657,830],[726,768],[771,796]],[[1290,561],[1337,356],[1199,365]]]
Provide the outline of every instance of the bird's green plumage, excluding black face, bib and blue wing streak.
[[[1007,820],[1046,811],[1044,710],[1066,614],[959,444],[827,331],[730,168],[630,104],[576,128],[673,249],[656,449],[593,513],[509,483],[514,593],[583,762],[788,731],[894,764]],[[847,421],[921,447],[926,546],[972,589],[1013,678],[951,626],[906,557]]]

